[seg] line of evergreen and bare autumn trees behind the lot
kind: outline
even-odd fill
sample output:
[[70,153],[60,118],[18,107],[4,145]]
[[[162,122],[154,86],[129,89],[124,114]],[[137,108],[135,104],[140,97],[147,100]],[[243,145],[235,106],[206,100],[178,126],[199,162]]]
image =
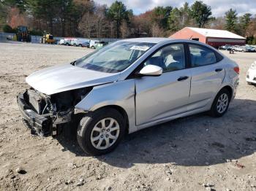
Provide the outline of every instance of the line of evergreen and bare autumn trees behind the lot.
[[0,0],[0,25],[4,31],[24,25],[32,34],[48,31],[55,36],[85,38],[170,36],[192,26],[226,29],[256,43],[255,15],[238,17],[235,9],[229,9],[224,16],[213,17],[211,7],[203,1],[186,2],[179,8],[155,7],[134,15],[121,1],[108,7],[91,0]]

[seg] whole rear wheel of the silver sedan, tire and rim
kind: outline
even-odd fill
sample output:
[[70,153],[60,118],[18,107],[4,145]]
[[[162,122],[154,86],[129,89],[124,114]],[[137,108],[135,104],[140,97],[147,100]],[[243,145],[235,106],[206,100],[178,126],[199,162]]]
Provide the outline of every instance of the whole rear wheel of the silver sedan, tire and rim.
[[222,89],[214,99],[214,103],[211,105],[210,115],[212,117],[222,117],[227,112],[230,104],[231,95],[227,89]]

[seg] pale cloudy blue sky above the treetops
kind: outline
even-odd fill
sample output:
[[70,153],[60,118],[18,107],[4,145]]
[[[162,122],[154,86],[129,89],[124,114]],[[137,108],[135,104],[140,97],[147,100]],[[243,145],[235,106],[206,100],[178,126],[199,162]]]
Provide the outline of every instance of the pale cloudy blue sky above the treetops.
[[[116,0],[94,0],[98,4],[107,4],[110,6]],[[146,12],[157,6],[182,7],[186,0],[119,0],[122,1],[127,9],[132,9],[135,15]],[[187,0],[189,4],[193,4],[196,0]],[[238,16],[244,15],[246,12],[256,15],[256,0],[201,0],[211,6],[211,12],[214,17],[225,15],[225,12],[232,8],[236,9]]]

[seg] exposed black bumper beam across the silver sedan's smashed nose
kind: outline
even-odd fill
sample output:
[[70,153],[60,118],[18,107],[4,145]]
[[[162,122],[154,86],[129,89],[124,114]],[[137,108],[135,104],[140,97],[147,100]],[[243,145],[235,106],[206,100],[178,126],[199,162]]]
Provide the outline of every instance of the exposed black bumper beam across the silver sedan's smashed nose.
[[31,129],[31,133],[37,133],[40,136],[53,135],[53,125],[50,116],[45,117],[37,114],[31,109],[31,106],[24,99],[25,93],[20,93],[17,96],[18,106],[23,115],[23,122],[26,127]]

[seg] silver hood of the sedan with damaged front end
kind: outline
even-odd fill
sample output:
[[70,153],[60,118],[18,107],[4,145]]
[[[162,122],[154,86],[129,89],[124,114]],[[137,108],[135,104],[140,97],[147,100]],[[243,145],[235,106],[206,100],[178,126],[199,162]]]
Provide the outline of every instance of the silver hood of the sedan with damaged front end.
[[118,74],[64,64],[36,71],[26,77],[26,82],[35,90],[51,95],[67,90],[114,82],[117,79]]

